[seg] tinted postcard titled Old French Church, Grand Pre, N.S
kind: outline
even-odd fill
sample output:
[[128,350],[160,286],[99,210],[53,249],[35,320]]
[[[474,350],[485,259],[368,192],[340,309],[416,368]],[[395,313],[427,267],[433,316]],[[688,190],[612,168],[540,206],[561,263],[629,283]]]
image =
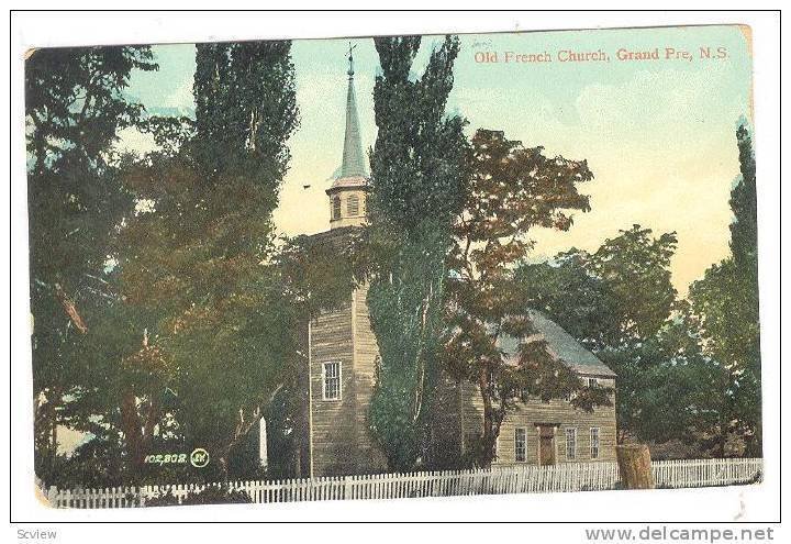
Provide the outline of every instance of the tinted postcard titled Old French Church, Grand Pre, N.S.
[[761,481],[743,25],[38,48],[56,508]]

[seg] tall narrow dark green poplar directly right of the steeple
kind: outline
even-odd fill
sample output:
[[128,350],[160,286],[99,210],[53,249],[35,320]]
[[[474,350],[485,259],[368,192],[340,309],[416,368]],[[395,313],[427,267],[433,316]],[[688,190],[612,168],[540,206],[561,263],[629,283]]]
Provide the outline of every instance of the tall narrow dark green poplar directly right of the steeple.
[[420,36],[376,38],[378,135],[371,154],[368,306],[380,352],[370,425],[391,469],[421,456],[445,299],[445,258],[464,206],[464,120],[446,115],[459,41],[447,36],[420,78]]

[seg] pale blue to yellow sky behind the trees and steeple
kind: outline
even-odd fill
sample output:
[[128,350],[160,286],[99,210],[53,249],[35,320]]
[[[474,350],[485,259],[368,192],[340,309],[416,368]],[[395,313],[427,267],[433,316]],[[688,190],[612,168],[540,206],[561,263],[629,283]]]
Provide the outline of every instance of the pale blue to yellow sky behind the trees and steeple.
[[[549,156],[587,159],[594,175],[580,186],[590,196],[591,211],[575,213],[567,232],[533,231],[533,259],[570,247],[595,251],[633,224],[657,235],[675,231],[672,280],[684,295],[691,281],[728,254],[728,198],[738,176],[735,130],[740,120],[751,121],[746,32],[695,26],[460,36],[448,113],[465,116],[470,135],[479,127],[502,130],[525,146],[543,146]],[[343,151],[348,43],[293,42],[300,127],[288,142],[291,167],[275,212],[283,234],[328,229],[324,190]],[[368,148],[376,141],[372,89],[378,56],[372,40],[352,43],[363,144]],[[441,43],[442,36],[424,36],[415,76]],[[687,51],[691,58],[666,58],[668,47]],[[712,57],[723,47],[726,56],[702,59],[701,47],[711,47]],[[619,49],[655,48],[659,59],[617,58]],[[602,52],[609,60],[559,62],[560,51]],[[134,73],[129,95],[152,113],[191,113],[194,46],[158,45],[154,52],[159,70]],[[506,63],[508,52],[548,53],[552,62]],[[479,62],[484,53],[495,53],[498,62]],[[124,131],[120,145],[140,152],[153,147],[134,130]]]

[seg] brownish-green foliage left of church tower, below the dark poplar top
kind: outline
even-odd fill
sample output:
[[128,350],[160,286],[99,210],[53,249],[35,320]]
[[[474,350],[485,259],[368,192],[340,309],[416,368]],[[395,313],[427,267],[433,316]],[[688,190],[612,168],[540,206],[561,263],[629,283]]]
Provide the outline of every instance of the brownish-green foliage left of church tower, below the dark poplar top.
[[179,432],[225,473],[298,352],[298,315],[270,262],[277,193],[168,163],[130,177],[156,203],[120,234],[122,297],[156,315],[153,342],[168,368],[159,384],[176,392]]

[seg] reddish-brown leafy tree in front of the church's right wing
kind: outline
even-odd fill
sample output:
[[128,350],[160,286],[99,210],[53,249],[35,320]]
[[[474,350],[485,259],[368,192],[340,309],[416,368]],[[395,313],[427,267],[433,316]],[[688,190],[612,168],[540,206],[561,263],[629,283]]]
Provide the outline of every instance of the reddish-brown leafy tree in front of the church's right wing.
[[[568,230],[571,212],[590,209],[578,184],[592,179],[584,160],[546,157],[502,132],[479,130],[472,138],[471,181],[454,225],[448,257],[448,315],[443,357],[450,374],[475,384],[483,400],[478,458],[494,459],[500,425],[517,400],[543,400],[579,391],[573,402],[590,410],[609,403],[608,391],[581,380],[547,353],[533,332],[514,267],[533,246],[534,227]],[[519,354],[501,344],[516,338]]]

